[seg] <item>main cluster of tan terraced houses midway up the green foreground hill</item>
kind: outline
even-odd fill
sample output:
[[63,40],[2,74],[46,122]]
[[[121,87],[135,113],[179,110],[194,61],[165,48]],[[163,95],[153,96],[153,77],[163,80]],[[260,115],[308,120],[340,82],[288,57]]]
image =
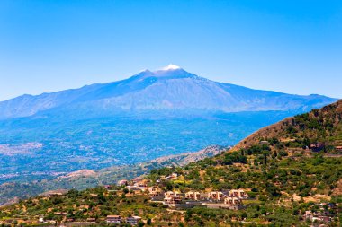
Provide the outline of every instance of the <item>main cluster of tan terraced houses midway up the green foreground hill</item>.
[[[172,173],[169,176],[162,177],[157,180],[176,179],[178,175]],[[204,205],[207,207],[219,207],[231,210],[239,210],[243,208],[243,200],[248,198],[247,193],[243,189],[232,189],[222,191],[200,192],[189,191],[181,193],[179,191],[163,191],[158,186],[148,187],[147,179],[133,179],[132,181],[120,180],[118,185],[133,191],[140,190],[147,192],[148,196],[154,202],[163,203],[170,207],[189,208],[194,205]]]

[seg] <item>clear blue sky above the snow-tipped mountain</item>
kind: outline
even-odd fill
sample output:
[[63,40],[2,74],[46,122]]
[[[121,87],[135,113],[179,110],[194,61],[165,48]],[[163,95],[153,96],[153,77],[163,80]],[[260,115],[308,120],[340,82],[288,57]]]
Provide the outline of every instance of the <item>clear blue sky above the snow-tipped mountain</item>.
[[171,63],[218,82],[342,98],[342,1],[0,1],[0,100]]

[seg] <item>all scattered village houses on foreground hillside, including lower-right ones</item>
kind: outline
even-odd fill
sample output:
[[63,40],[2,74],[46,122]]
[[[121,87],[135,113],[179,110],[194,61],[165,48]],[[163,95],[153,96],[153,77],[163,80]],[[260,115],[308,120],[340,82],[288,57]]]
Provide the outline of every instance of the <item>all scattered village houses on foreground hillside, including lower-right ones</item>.
[[[248,196],[248,188],[222,189],[212,191],[188,190],[181,192],[180,190],[165,190],[166,182],[179,179],[180,176],[173,172],[168,176],[160,176],[155,182],[150,179],[135,178],[131,180],[121,179],[117,185],[106,185],[103,189],[109,194],[117,196],[148,196],[150,203],[156,203],[168,207],[171,211],[182,212],[194,206],[202,206],[211,209],[228,209],[241,210],[245,209],[248,202],[255,201],[255,198]],[[58,198],[65,195],[66,192],[51,192],[47,195],[49,198]],[[93,199],[98,199],[99,195],[89,194]],[[248,201],[248,202],[247,202]],[[330,223],[332,215],[329,210],[336,208],[335,204],[320,203],[317,211],[308,210],[302,215],[302,219],[311,223]],[[326,208],[328,207],[328,209]],[[67,212],[54,212],[54,216],[58,217],[54,220],[49,220],[49,217],[40,216],[39,223],[43,225],[58,225],[58,226],[89,226],[94,225],[102,220],[102,222],[111,224],[129,224],[132,226],[143,226],[150,223],[151,220],[143,219],[139,215],[121,215],[108,214],[101,218],[88,217],[83,221],[76,221],[74,218],[67,217]]]

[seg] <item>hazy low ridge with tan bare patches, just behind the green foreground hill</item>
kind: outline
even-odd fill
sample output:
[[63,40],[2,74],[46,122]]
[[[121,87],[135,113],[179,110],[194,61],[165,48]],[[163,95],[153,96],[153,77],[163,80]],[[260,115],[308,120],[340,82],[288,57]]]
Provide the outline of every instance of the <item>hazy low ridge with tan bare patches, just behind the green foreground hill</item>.
[[113,166],[102,170],[77,170],[54,179],[34,180],[31,182],[11,182],[0,185],[0,205],[11,204],[19,199],[36,196],[57,189],[94,188],[96,186],[112,185],[119,179],[133,179],[150,170],[166,166],[184,166],[190,162],[215,156],[227,148],[217,145],[206,147],[195,153],[170,155],[149,162],[134,165]]

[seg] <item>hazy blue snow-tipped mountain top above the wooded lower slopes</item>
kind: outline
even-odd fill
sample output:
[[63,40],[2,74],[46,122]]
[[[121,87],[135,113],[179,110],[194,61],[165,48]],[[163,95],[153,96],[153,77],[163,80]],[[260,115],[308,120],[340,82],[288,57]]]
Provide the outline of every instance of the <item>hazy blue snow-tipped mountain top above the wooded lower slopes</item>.
[[80,112],[85,111],[92,117],[137,110],[305,111],[332,101],[334,99],[320,95],[291,95],[217,83],[169,66],[155,72],[146,70],[114,83],[95,83],[79,89],[38,96],[23,95],[2,101],[0,119],[28,117],[47,110],[52,115],[67,111],[69,116],[82,116]]

